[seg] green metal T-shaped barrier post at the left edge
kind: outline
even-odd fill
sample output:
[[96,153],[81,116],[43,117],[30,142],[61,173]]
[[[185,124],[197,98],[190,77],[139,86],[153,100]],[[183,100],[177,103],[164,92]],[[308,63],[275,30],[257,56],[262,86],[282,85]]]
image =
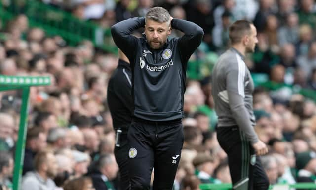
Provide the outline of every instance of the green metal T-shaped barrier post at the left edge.
[[50,85],[50,77],[3,76],[0,75],[0,91],[22,90],[22,105],[20,110],[20,124],[18,140],[15,150],[13,171],[13,190],[19,190],[24,161],[24,149],[27,132],[27,114],[29,92],[31,86]]

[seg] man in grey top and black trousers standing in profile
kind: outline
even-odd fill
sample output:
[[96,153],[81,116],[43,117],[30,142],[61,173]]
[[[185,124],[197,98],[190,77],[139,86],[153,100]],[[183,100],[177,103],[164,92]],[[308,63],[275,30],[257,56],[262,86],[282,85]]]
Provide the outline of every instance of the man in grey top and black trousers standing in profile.
[[231,48],[222,54],[212,73],[212,95],[218,115],[218,142],[228,155],[234,190],[267,190],[269,181],[257,155],[268,152],[253,126],[254,84],[244,56],[253,52],[254,25],[239,20],[229,28]]

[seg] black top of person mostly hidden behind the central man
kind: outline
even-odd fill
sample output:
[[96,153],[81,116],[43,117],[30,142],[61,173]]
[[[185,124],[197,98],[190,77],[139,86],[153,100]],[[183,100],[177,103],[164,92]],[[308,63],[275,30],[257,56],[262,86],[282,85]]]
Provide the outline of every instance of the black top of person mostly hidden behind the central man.
[[109,84],[107,101],[114,129],[127,129],[132,120],[131,69],[129,63],[119,59]]

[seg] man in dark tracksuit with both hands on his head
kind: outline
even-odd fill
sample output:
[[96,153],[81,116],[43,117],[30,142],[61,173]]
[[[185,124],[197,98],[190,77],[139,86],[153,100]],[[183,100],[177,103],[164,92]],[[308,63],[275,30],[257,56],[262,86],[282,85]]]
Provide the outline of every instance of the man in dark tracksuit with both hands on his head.
[[[145,38],[131,35],[141,27]],[[171,28],[184,36],[168,40]],[[115,24],[111,33],[132,69],[133,121],[127,135],[131,188],[149,190],[154,168],[153,190],[171,190],[183,145],[187,62],[201,43],[203,30],[154,7],[145,18]]]

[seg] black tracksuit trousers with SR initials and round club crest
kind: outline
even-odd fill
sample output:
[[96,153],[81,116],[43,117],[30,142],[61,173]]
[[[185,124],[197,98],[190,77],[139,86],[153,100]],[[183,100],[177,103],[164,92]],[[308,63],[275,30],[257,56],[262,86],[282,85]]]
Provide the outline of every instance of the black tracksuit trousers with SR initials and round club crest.
[[181,157],[181,119],[153,122],[135,118],[128,130],[129,174],[132,190],[171,190]]

